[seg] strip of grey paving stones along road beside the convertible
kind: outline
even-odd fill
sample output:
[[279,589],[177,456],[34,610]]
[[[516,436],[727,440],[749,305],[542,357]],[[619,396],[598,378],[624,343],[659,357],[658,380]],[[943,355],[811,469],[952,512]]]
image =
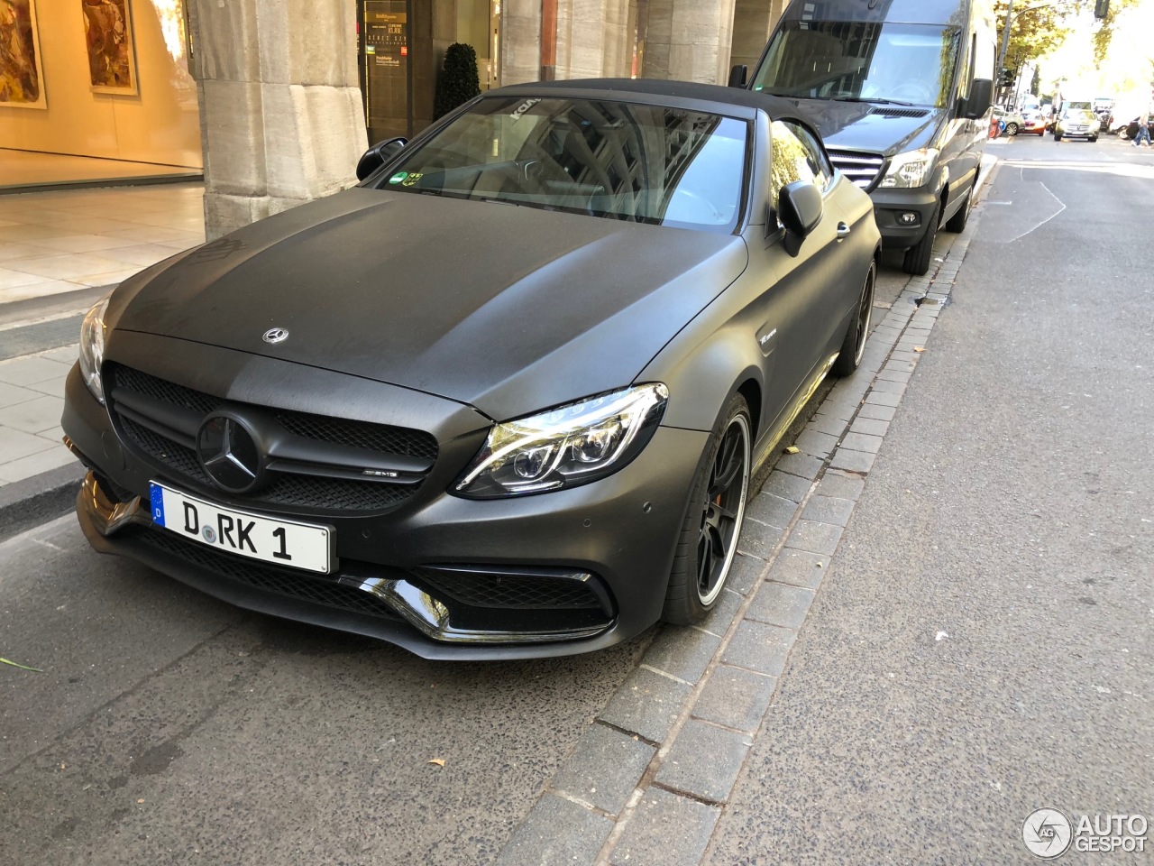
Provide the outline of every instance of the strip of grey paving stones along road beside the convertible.
[[[996,167],[989,177],[995,173]],[[988,188],[979,193],[973,217],[980,216]],[[754,585],[727,589],[703,629],[661,629],[593,721],[593,729],[654,749],[649,764],[619,761],[598,784],[570,768],[583,761],[578,746],[515,839],[526,827],[563,834],[572,818],[549,820],[563,800],[612,823],[595,854],[582,845],[579,854],[569,852],[568,864],[702,863],[890,423],[949,301],[979,222],[973,217],[936,257],[937,270],[907,283],[870,335],[859,373],[833,387],[799,435],[801,451],[782,456],[750,501],[740,552],[754,566],[747,572],[757,572]],[[706,634],[713,640],[703,640]],[[682,643],[684,650],[679,649]],[[707,648],[713,654],[703,665]],[[565,790],[574,777],[613,791],[632,785],[632,792],[623,807],[610,812],[585,801],[580,791]],[[496,863],[537,866],[553,860],[510,843]]]

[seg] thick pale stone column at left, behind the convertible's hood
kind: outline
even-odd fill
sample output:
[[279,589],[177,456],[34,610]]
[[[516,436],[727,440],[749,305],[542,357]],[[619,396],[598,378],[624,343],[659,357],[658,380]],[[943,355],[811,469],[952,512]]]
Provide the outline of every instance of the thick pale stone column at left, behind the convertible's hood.
[[209,239],[355,181],[353,0],[194,0],[189,20]]

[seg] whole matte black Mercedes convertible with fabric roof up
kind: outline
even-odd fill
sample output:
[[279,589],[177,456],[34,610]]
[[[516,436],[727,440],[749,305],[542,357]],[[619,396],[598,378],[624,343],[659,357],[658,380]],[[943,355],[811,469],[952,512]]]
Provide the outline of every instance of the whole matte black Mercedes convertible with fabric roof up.
[[89,313],[92,546],[432,658],[717,603],[751,469],[869,328],[879,236],[788,103],[526,84]]

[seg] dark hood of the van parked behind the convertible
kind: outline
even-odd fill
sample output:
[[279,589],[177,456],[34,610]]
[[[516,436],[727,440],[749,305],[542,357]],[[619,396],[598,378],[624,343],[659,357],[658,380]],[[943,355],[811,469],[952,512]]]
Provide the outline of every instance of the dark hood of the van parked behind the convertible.
[[[930,147],[945,113],[941,109],[875,106],[831,99],[799,99],[797,105],[817,125],[826,147],[865,150],[883,156]],[[874,113],[890,109],[894,113]],[[917,117],[905,117],[898,112],[916,113]]]

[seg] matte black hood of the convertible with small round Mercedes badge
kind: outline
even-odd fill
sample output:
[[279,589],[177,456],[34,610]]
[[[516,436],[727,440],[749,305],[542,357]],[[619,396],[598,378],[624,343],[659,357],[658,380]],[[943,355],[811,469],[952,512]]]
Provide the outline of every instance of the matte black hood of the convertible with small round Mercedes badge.
[[107,323],[508,419],[630,383],[748,257],[732,234],[353,188],[143,271]]

